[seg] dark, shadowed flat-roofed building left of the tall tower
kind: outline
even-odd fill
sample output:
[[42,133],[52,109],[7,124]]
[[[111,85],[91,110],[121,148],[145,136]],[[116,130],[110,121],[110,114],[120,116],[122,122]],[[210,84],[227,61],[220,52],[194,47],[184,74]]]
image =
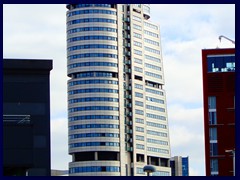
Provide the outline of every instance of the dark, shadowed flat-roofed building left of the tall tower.
[[3,175],[50,176],[52,60],[3,60]]

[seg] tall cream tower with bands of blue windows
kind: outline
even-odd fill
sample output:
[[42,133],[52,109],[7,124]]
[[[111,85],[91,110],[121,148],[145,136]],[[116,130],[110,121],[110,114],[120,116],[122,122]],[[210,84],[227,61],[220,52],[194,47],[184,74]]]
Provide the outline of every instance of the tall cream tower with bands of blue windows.
[[170,176],[159,26],[149,4],[68,4],[70,175]]

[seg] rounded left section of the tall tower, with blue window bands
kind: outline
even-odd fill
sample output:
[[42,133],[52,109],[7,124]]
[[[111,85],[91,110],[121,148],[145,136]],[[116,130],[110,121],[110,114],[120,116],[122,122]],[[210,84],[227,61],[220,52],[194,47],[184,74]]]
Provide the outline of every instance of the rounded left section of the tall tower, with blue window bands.
[[[91,147],[98,159],[120,147],[117,10],[111,4],[67,7],[69,153],[77,157]],[[87,166],[74,159],[70,175],[120,172],[112,161]]]

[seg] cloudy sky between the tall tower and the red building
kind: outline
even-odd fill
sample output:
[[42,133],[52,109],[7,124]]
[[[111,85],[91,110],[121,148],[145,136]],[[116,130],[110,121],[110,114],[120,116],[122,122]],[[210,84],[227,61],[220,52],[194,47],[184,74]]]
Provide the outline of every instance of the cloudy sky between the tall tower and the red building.
[[189,156],[190,175],[205,175],[202,52],[234,47],[234,5],[154,5],[159,22],[173,156]]

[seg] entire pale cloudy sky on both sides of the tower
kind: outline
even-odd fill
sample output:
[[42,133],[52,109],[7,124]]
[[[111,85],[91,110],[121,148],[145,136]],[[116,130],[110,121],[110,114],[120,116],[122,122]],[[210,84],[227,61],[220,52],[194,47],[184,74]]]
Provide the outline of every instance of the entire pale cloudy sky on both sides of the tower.
[[[67,169],[66,8],[3,5],[3,57],[53,59],[51,71],[52,169]],[[232,48],[235,5],[154,4],[160,25],[172,156],[189,156],[190,175],[205,175],[201,50]]]

